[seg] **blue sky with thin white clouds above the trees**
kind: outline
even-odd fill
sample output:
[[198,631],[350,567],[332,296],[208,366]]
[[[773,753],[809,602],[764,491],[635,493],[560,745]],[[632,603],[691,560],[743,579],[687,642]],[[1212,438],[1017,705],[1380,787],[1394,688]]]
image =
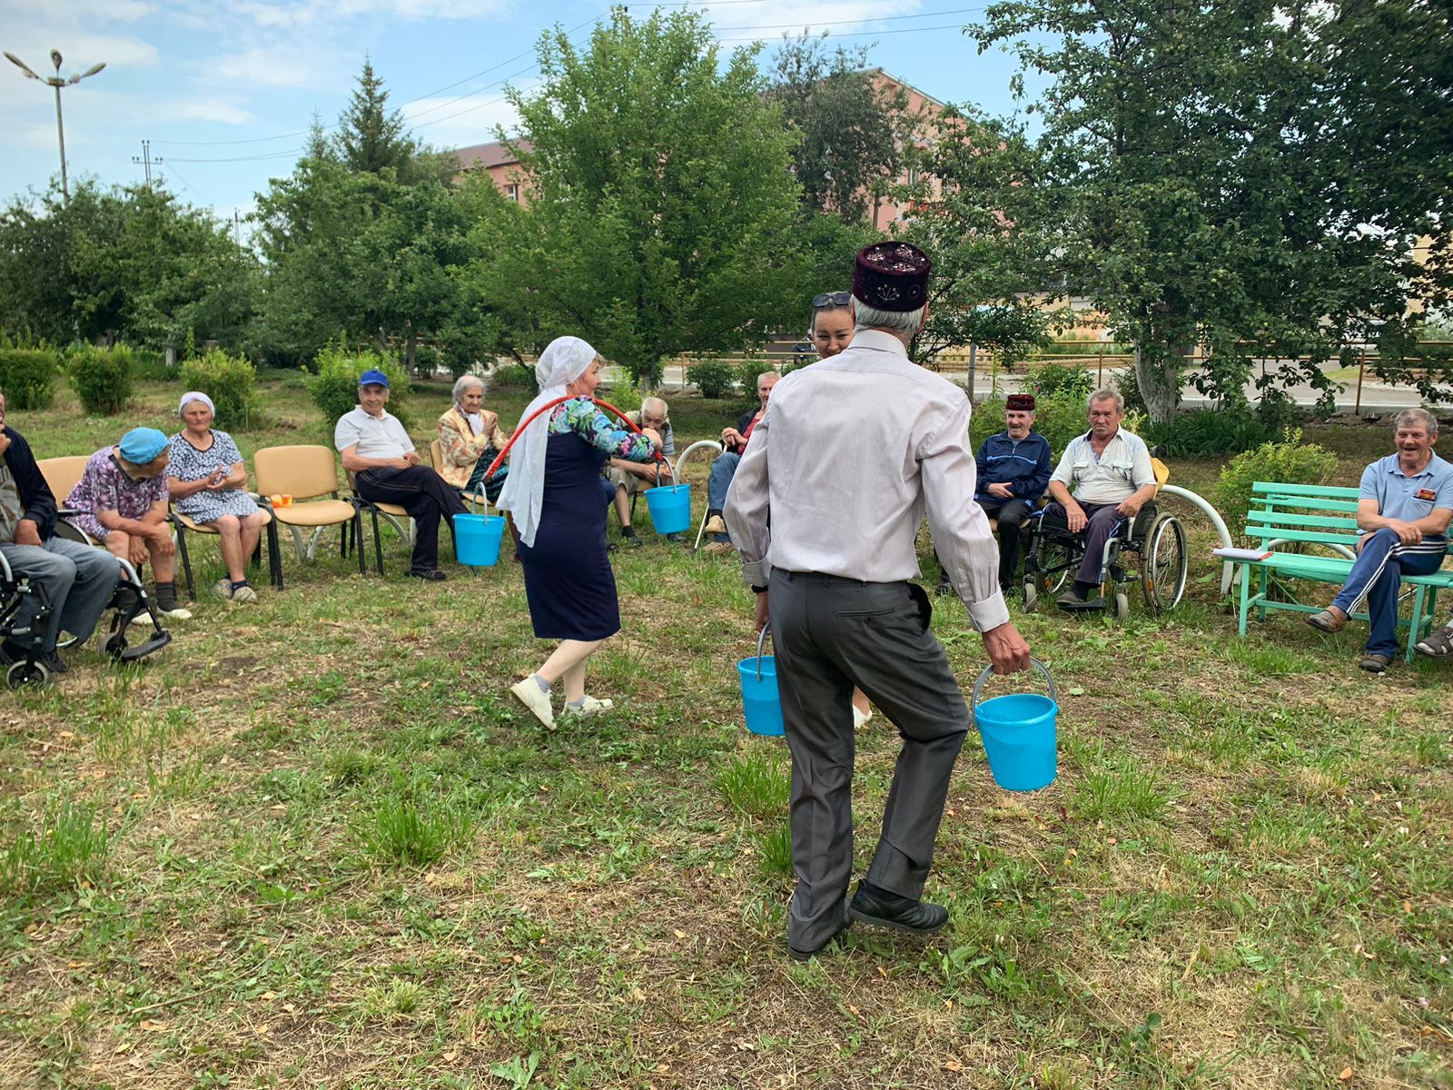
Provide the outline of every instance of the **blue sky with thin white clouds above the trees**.
[[[1008,112],[1014,60],[979,55],[959,28],[982,0],[718,0],[674,3],[706,13],[735,48],[812,28],[944,102]],[[632,4],[645,15],[649,4]],[[141,180],[154,170],[183,199],[231,218],[267,179],[288,174],[314,112],[331,125],[365,54],[418,138],[436,147],[493,140],[513,113],[503,84],[536,84],[543,29],[586,41],[606,3],[520,0],[0,0],[0,49],[49,74],[106,70],[62,92],[71,177]],[[0,58],[0,196],[58,173],[54,94]]]

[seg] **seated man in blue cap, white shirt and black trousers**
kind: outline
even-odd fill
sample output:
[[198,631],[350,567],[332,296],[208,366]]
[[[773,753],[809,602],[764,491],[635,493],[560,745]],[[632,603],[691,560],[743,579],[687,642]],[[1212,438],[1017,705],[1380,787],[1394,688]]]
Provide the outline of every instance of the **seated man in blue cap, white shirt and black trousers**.
[[389,413],[388,376],[382,371],[359,375],[359,403],[339,417],[333,445],[343,468],[355,474],[359,496],[369,503],[397,503],[414,520],[414,578],[442,580],[439,570],[439,519],[464,514],[465,506],[443,477],[418,464],[414,440]]

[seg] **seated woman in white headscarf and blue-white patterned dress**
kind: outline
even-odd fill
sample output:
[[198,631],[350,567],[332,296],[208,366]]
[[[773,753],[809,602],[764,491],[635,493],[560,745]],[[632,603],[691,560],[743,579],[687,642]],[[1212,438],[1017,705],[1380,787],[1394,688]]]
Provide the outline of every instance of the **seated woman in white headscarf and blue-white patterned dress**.
[[182,430],[169,446],[167,490],[177,510],[219,535],[227,578],[212,584],[212,593],[232,602],[257,602],[247,584],[247,558],[257,548],[267,513],[247,494],[243,452],[227,432],[212,427],[212,398],[193,389],[182,395],[177,416]]

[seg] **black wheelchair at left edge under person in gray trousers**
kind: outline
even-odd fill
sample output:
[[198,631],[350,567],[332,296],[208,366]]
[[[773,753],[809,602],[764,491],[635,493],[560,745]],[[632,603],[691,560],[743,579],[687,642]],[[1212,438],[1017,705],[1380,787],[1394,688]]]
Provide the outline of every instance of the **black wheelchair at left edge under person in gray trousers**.
[[[61,526],[64,526],[65,530],[64,536],[77,541],[84,539],[84,535],[76,528],[65,523],[61,523]],[[77,538],[77,535],[80,536]],[[16,622],[19,619],[20,609],[29,600],[36,602],[38,607],[35,610],[35,616],[31,625],[19,628]],[[13,639],[31,648],[23,658],[12,663],[6,669],[6,687],[19,689],[26,685],[41,686],[51,680],[49,669],[45,663],[35,657],[31,637],[35,625],[48,621],[54,609],[55,606],[51,603],[45,589],[32,586],[31,580],[25,576],[15,574],[4,555],[0,555],[0,639]],[[129,561],[121,561],[121,580],[116,583],[116,590],[112,593],[106,609],[113,612],[102,648],[112,657],[112,661],[134,663],[160,651],[171,642],[171,634],[161,626],[161,618],[157,613],[155,603],[147,594],[145,586],[142,586],[137,570]],[[128,628],[142,615],[150,619],[151,632],[145,639],[132,645],[126,638]],[[71,637],[68,632],[62,632],[61,638],[55,642],[58,651],[74,645],[76,637]]]

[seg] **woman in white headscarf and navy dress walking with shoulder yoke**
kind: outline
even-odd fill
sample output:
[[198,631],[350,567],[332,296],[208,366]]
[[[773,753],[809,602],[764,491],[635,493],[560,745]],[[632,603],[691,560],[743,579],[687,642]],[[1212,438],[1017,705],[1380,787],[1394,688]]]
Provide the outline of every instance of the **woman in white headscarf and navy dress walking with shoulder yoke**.
[[[606,497],[600,468],[610,458],[645,462],[660,452],[652,430],[626,432],[591,401],[600,356],[580,337],[558,337],[541,353],[541,392],[520,416],[500,507],[514,514],[525,564],[525,594],[541,639],[559,639],[545,663],[510,692],[555,730],[551,689],[564,682],[565,716],[609,711],[586,695],[586,660],[620,631],[616,580],[606,555]],[[551,401],[567,398],[525,421]]]

